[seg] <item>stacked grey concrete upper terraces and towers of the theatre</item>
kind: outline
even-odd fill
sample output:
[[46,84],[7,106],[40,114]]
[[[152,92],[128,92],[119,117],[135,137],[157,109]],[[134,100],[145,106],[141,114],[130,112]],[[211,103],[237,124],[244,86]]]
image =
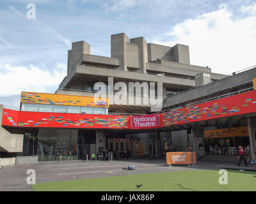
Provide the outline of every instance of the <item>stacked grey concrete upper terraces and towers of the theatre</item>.
[[[91,55],[85,41],[72,43],[67,64],[67,77],[56,94],[72,94],[76,90],[76,95],[92,96],[95,82],[108,82],[108,77],[113,77],[114,83],[163,82],[166,98],[173,92],[195,87],[195,76],[200,73],[206,73],[209,82],[226,77],[212,73],[211,68],[191,65],[187,45],[167,47],[147,43],[143,37],[129,39],[125,33],[111,36],[111,57]],[[148,113],[149,108],[150,105],[113,105],[109,111]]]

